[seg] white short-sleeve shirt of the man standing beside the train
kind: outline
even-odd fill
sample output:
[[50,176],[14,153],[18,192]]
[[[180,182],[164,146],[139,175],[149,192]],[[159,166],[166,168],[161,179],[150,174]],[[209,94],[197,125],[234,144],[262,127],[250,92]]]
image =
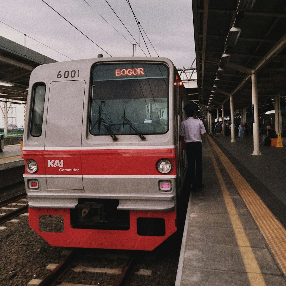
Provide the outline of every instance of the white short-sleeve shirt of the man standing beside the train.
[[206,133],[206,128],[200,119],[189,117],[180,124],[179,135],[184,136],[184,141],[188,142],[202,142],[200,134]]

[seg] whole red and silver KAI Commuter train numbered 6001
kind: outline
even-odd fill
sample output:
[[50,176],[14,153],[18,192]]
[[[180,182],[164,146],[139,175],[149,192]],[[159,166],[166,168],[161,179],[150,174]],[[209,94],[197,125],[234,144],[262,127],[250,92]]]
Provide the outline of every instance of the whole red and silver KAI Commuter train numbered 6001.
[[177,229],[187,103],[166,58],[36,67],[22,151],[30,226],[53,246],[160,245]]

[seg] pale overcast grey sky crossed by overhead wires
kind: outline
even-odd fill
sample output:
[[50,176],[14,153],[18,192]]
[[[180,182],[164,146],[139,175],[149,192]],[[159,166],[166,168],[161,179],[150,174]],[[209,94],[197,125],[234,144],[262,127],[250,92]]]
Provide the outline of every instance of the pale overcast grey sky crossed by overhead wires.
[[[98,54],[132,56],[133,44],[137,42],[135,56],[159,55],[169,58],[177,68],[191,67],[195,58],[192,1],[129,3],[148,36],[141,29],[144,39],[128,0],[1,0],[0,36],[56,61],[93,58]],[[17,110],[18,113],[21,112]],[[17,125],[22,125],[18,118]]]

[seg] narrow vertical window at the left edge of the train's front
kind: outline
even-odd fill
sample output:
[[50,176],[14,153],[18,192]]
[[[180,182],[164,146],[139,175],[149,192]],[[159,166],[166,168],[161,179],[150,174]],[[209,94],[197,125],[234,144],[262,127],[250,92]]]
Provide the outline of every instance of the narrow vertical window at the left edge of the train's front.
[[39,137],[42,135],[46,86],[44,84],[34,86],[33,93],[31,135],[34,137]]

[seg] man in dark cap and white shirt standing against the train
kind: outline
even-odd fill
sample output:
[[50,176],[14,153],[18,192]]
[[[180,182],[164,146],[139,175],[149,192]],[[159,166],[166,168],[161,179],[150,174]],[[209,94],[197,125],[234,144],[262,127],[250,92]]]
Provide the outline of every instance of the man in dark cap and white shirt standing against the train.
[[186,155],[192,191],[197,191],[204,187],[202,184],[202,137],[205,137],[206,129],[201,120],[196,119],[195,106],[187,104],[184,111],[188,119],[180,124],[180,140],[186,142]]

